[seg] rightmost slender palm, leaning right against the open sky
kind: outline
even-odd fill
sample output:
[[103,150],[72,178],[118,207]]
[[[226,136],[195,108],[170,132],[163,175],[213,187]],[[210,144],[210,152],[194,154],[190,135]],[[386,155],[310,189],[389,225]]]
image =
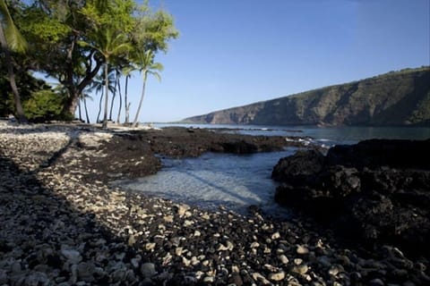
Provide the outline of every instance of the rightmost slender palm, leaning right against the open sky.
[[148,80],[148,75],[152,74],[158,80],[161,80],[159,73],[157,71],[162,71],[163,65],[161,63],[154,63],[154,56],[155,56],[154,52],[151,50],[148,50],[146,52],[135,51],[133,61],[137,65],[139,71],[142,72],[143,81],[142,81],[141,100],[139,101],[136,115],[134,116],[134,121],[132,124],[133,127],[136,127],[137,121],[139,119],[139,114],[141,113],[141,107],[142,107],[143,97],[145,96],[145,86],[146,86],[146,80]]

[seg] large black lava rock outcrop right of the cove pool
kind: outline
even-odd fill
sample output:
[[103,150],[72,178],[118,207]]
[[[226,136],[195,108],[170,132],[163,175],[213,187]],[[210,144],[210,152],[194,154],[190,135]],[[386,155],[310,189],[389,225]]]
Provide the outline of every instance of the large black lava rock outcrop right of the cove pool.
[[430,139],[373,139],[280,159],[275,199],[348,239],[430,253]]

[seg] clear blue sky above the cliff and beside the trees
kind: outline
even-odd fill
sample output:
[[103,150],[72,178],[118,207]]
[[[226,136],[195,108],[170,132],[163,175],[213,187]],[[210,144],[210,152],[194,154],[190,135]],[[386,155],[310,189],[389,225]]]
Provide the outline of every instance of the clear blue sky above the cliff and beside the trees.
[[[430,64],[430,0],[159,0],[180,37],[141,122],[173,122]],[[134,74],[131,117],[142,90]],[[90,103],[92,121],[98,97]],[[123,113],[124,114],[124,113]]]

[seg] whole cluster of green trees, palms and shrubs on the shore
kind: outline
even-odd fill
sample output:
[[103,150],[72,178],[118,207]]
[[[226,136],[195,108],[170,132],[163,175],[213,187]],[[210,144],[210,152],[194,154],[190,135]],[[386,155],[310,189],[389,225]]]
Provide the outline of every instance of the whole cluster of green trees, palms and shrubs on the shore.
[[[120,90],[118,77],[123,75],[128,79],[131,72],[142,71],[146,78],[154,66],[159,65],[155,63],[156,55],[166,53],[168,41],[178,36],[172,16],[164,11],[153,12],[148,2],[139,6],[133,0],[6,0],[1,7],[2,30],[13,27],[15,32],[21,32],[16,35],[22,35],[31,43],[18,57],[22,49],[12,48],[12,38],[5,44],[2,41],[1,55],[5,63],[11,63],[17,78],[28,78],[38,71],[59,83],[55,90],[25,90],[30,95],[21,113],[18,105],[9,104],[13,77],[0,81],[3,102],[0,115],[14,114],[21,118],[25,114],[33,121],[64,119],[66,114],[70,117],[80,101],[85,106],[92,88],[102,91],[103,127],[107,127],[107,119],[112,118],[113,112],[112,102],[110,111],[108,108],[110,95]],[[151,55],[150,63],[142,61],[139,55]],[[0,72],[3,79],[4,70]],[[113,85],[112,79],[115,79]],[[5,88],[9,83],[11,88]],[[18,83],[16,89],[24,92],[25,88]],[[121,94],[119,97],[121,99]],[[14,101],[19,102],[17,99],[15,96]],[[125,102],[127,121],[129,106],[130,103]],[[119,115],[120,111],[118,120]]]

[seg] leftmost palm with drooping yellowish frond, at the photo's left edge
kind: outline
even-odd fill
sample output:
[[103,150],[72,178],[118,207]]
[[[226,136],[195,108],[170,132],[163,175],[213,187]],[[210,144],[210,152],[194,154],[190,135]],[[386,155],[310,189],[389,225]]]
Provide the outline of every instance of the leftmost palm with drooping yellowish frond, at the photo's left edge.
[[27,48],[27,43],[16,26],[7,5],[4,0],[0,0],[0,46],[4,51],[4,56],[7,65],[7,72],[9,75],[9,82],[11,84],[13,99],[15,101],[16,114],[18,115],[19,122],[27,122],[24,111],[22,109],[21,97],[16,86],[15,73],[13,71],[13,59],[11,50],[15,52],[23,52]]

